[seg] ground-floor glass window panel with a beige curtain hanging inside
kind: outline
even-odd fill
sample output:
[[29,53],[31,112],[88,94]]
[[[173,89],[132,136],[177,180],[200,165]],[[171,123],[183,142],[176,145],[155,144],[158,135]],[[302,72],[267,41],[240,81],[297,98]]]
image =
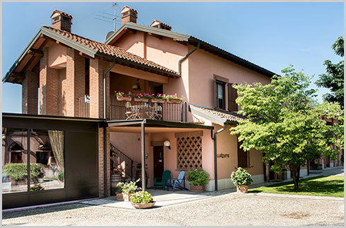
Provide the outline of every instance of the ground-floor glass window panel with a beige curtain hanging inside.
[[64,131],[31,129],[30,191],[62,188],[64,188]]

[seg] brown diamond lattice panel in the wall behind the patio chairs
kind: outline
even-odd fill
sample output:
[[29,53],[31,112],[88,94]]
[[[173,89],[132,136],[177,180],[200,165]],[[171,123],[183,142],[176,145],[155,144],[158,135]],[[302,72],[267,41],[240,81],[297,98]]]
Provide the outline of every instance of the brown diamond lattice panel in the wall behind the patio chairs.
[[201,136],[176,138],[178,169],[197,169],[202,167],[202,138]]

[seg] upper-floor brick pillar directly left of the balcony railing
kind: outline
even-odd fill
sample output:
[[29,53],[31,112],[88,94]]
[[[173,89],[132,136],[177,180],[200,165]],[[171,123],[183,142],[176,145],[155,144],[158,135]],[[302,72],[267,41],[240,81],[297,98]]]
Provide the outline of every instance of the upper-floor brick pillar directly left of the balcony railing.
[[[103,118],[103,73],[111,65],[100,59],[90,59],[90,117]],[[107,117],[109,117],[109,72],[107,73]]]

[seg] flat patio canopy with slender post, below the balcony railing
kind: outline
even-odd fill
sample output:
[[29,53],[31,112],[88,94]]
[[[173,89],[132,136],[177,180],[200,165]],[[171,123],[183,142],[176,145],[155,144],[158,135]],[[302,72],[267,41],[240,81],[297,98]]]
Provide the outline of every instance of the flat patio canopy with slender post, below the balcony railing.
[[[186,122],[166,122],[162,120],[111,120],[102,123],[103,127],[109,127],[112,132],[140,133],[140,158],[142,164],[145,164],[145,133],[159,132],[187,132],[196,131],[196,129],[210,130],[210,136],[214,126]],[[215,158],[216,159],[216,158]],[[142,189],[145,191],[145,165],[141,167]]]

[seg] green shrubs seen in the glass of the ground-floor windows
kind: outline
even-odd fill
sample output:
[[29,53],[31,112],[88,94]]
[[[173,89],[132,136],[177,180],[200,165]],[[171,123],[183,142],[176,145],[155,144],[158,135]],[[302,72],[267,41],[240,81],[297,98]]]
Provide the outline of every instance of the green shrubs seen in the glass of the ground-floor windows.
[[[3,173],[6,173],[13,180],[22,180],[28,176],[28,164],[25,163],[8,163],[3,167]],[[31,178],[37,178],[41,175],[42,164],[30,164]]]

